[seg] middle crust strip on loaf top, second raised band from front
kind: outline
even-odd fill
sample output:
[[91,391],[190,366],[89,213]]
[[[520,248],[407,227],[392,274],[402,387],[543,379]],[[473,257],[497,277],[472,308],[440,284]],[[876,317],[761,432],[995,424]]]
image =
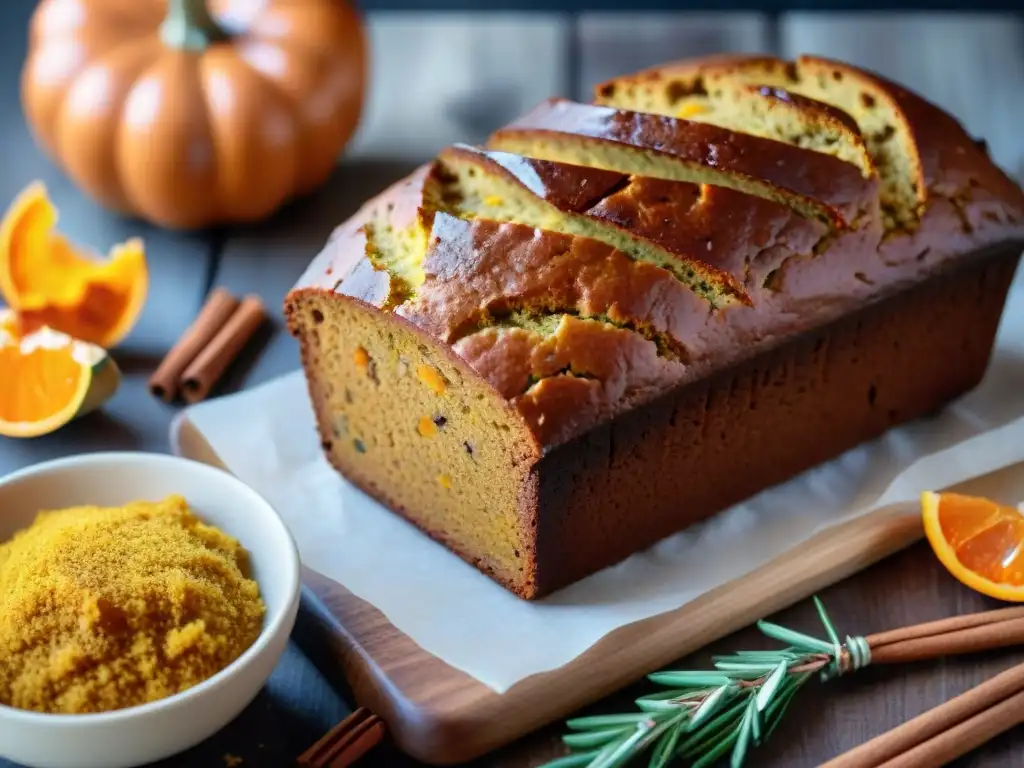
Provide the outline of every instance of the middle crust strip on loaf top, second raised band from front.
[[783,259],[813,254],[828,231],[785,206],[713,184],[465,145],[444,150],[439,163],[449,169],[450,212],[594,238],[663,268],[671,258],[667,268],[715,306],[753,303],[751,292]]

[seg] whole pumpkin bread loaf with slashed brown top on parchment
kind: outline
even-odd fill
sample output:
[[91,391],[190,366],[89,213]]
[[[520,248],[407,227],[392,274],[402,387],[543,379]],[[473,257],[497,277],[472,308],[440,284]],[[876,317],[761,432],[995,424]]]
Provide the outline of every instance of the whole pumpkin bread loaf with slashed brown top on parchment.
[[935,105],[720,56],[445,148],[286,311],[331,463],[534,599],[974,387],[1022,248]]

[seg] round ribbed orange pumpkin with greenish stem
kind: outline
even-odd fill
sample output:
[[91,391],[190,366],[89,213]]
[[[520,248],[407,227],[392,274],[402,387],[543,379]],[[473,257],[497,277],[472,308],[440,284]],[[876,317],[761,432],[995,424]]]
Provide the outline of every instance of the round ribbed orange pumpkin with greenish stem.
[[85,193],[191,229],[261,219],[326,181],[365,70],[343,0],[42,0],[22,101]]

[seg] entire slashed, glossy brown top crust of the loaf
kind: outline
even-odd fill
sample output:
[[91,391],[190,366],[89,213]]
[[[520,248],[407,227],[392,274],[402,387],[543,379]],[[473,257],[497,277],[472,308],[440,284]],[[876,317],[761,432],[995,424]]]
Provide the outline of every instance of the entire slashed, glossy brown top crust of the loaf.
[[445,148],[293,293],[420,328],[551,447],[1016,241],[1024,193],[934,104],[826,59],[719,56]]

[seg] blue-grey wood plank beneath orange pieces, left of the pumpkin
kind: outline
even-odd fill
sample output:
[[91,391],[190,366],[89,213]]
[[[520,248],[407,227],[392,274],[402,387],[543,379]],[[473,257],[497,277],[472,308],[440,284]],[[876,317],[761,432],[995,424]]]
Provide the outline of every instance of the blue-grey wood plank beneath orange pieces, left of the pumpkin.
[[36,148],[18,99],[26,29],[35,3],[0,3],[0,206],[23,187],[42,180],[60,211],[59,227],[75,242],[105,252],[138,236],[148,254],[151,290],[131,337],[116,350],[125,378],[102,413],[33,440],[0,438],[0,474],[45,459],[87,451],[166,451],[174,409],[151,397],[145,383],[160,357],[195,316],[211,255],[209,239],[168,232],[108,213],[90,203]]

